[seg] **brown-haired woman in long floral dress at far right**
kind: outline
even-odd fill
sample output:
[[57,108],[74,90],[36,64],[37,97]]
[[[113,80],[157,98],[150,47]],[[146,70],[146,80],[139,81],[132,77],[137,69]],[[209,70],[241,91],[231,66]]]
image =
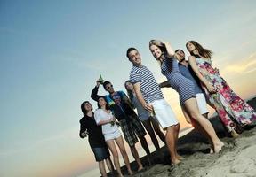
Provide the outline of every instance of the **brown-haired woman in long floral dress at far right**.
[[212,51],[204,49],[198,42],[186,44],[188,61],[200,79],[204,92],[228,132],[237,137],[236,126],[244,127],[256,120],[256,112],[228,86],[220,73],[212,68]]

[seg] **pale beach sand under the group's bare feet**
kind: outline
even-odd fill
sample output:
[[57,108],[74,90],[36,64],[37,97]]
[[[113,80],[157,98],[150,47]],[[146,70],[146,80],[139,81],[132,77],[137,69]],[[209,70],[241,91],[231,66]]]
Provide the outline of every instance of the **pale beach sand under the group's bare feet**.
[[[248,101],[256,109],[256,97]],[[152,153],[152,165],[147,158],[141,158],[145,168],[142,172],[134,173],[134,177],[254,177],[256,176],[256,127],[252,126],[236,139],[227,137],[215,117],[211,119],[212,126],[225,143],[225,147],[218,154],[209,154],[207,140],[196,130],[179,138],[178,152],[184,158],[180,165],[171,166],[170,156],[163,147],[164,157],[158,152]],[[136,171],[137,165],[132,162],[132,170]],[[124,174],[125,167],[122,167]]]

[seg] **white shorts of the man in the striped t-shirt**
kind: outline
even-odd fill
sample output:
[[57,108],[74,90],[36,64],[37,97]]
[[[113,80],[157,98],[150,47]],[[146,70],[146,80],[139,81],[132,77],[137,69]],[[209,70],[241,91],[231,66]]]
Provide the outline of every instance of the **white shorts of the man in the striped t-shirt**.
[[179,124],[171,106],[164,100],[156,100],[151,102],[156,113],[156,120],[162,128]]

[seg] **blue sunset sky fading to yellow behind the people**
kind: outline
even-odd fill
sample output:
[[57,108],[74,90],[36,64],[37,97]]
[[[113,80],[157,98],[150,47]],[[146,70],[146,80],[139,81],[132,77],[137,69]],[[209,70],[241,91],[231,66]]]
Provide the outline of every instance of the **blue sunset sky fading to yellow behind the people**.
[[[80,104],[89,100],[96,109],[90,95],[100,74],[124,90],[129,47],[165,81],[151,39],[187,56],[186,42],[201,43],[239,96],[255,96],[255,8],[253,0],[0,0],[0,176],[83,176],[97,168],[78,136]],[[178,94],[163,92],[188,127]]]

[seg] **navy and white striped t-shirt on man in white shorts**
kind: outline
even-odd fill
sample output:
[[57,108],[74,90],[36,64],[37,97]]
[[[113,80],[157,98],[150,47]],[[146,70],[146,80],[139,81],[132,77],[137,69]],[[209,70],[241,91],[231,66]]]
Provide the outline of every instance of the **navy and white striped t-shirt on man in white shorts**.
[[164,99],[158,83],[146,66],[142,65],[138,67],[133,65],[130,73],[130,81],[133,84],[140,82],[140,91],[147,104],[155,100]]

